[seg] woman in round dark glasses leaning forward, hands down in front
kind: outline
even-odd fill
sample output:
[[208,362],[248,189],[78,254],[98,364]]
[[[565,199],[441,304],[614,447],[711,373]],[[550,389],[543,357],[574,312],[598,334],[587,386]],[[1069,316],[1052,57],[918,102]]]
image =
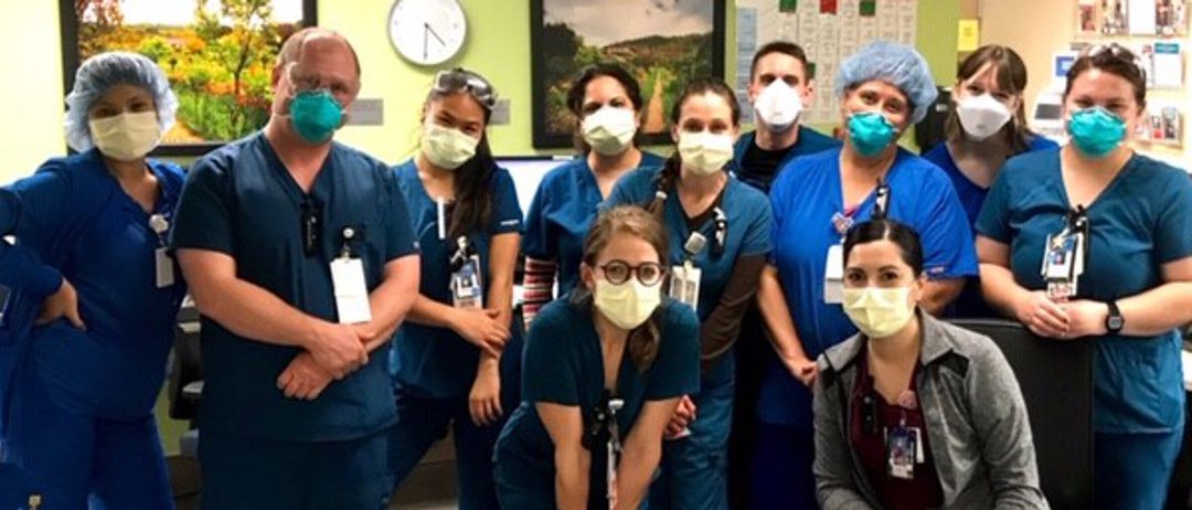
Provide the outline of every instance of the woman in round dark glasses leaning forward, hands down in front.
[[581,284],[526,338],[522,403],[497,441],[497,493],[517,510],[637,510],[663,434],[700,385],[699,323],[663,296],[666,231],[634,206],[600,213]]

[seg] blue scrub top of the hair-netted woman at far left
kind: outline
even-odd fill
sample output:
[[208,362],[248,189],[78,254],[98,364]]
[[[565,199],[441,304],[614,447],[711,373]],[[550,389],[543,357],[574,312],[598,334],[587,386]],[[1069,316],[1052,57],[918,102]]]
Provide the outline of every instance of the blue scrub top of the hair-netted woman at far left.
[[[151,160],[147,167],[161,191],[153,213],[173,224],[182,170]],[[0,231],[17,237],[0,249],[0,284],[13,290],[0,343],[19,350],[0,356],[29,363],[62,409],[110,419],[153,411],[186,286],[175,269],[174,285],[157,288],[155,250],[167,237],[149,218],[95,149],[50,160],[0,189]],[[39,310],[62,278],[77,291],[86,331],[64,318],[32,324],[30,309]]]

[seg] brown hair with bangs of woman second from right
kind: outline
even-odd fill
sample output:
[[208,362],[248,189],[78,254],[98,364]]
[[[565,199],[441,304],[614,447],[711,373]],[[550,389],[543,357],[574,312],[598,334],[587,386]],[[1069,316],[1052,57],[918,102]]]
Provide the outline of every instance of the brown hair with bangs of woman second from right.
[[[1023,98],[1023,92],[1026,91],[1026,64],[1008,46],[986,44],[961,62],[960,69],[956,71],[956,81],[970,80],[981,69],[985,69],[986,64],[993,66],[999,89],[1019,97],[1018,110],[1013,112],[1011,120],[1001,128],[997,136],[1008,142],[1010,154],[1024,153],[1030,149],[1031,138],[1035,137],[1035,133],[1026,128],[1026,99]],[[956,97],[956,91],[952,91],[952,97]],[[964,137],[964,128],[961,126],[960,116],[956,113],[955,100],[948,106],[944,135],[951,142]]]

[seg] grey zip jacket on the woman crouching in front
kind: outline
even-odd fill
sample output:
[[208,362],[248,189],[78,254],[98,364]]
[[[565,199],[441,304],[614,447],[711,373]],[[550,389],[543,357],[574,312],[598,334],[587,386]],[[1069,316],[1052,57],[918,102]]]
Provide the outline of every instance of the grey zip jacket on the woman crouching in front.
[[[926,313],[914,380],[946,509],[1047,509],[1018,381],[988,337]],[[849,443],[853,336],[819,359],[815,381],[815,489],[820,508],[882,508]],[[831,361],[831,363],[828,363]]]

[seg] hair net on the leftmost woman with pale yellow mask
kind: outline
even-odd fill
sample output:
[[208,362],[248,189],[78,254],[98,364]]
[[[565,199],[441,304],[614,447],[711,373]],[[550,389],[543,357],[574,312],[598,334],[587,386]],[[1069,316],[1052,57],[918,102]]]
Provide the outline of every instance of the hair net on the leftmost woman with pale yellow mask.
[[153,97],[162,133],[174,125],[178,97],[170,91],[166,73],[154,61],[128,51],[99,54],[79,66],[74,89],[67,94],[67,143],[72,149],[81,153],[95,145],[91,141],[87,111],[117,85],[141,87]]

